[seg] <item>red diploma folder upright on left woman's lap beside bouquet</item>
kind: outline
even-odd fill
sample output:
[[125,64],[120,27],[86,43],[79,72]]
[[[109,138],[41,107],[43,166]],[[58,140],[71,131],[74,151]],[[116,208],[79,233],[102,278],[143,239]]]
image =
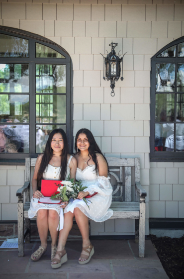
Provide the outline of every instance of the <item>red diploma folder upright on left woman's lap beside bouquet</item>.
[[[44,196],[51,196],[57,192],[58,185],[61,185],[62,180],[42,180],[41,192]],[[59,192],[57,192],[59,193]]]

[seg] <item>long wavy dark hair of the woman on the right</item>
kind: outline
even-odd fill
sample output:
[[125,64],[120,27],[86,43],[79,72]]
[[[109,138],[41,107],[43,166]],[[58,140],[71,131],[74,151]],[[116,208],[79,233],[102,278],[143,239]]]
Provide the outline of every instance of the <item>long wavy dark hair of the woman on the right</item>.
[[[80,153],[81,152],[81,150],[80,149],[78,149],[78,147],[77,147],[77,139],[78,139],[78,137],[79,137],[79,134],[85,134],[86,136],[87,136],[87,138],[88,138],[88,141],[89,141],[89,144],[90,144],[90,146],[89,146],[89,148],[88,148],[88,156],[89,155],[91,155],[92,156],[92,161],[94,162],[94,164],[95,164],[95,171],[96,171],[96,173],[97,173],[97,167],[98,167],[98,162],[97,162],[97,160],[96,160],[96,153],[99,153],[99,154],[101,154],[102,156],[103,156],[103,154],[101,153],[101,150],[99,149],[99,147],[98,147],[98,145],[97,145],[97,143],[96,143],[96,141],[95,141],[95,139],[94,139],[94,137],[93,137],[93,134],[92,134],[92,132],[90,131],[90,130],[88,130],[88,129],[86,129],[86,128],[82,128],[82,129],[80,129],[78,132],[77,132],[77,134],[76,134],[76,140],[75,140],[75,152],[76,152],[76,154],[77,153]],[[103,158],[104,158],[104,160],[106,161],[106,163],[107,163],[107,160],[105,159],[105,157],[103,156]],[[90,161],[90,156],[89,156],[89,160],[88,160],[88,162]],[[87,164],[88,164],[88,162],[87,162]],[[108,168],[108,163],[107,163],[107,168]],[[109,168],[108,168],[108,172],[109,172]]]

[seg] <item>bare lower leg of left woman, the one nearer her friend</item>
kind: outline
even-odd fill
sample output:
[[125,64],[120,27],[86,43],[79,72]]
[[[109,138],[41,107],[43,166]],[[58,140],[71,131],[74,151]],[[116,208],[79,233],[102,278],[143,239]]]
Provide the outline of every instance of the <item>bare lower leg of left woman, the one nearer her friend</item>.
[[58,239],[57,227],[59,224],[59,214],[56,210],[49,209],[49,217],[48,217],[49,231],[51,234],[52,243],[51,246],[56,246],[56,242]]

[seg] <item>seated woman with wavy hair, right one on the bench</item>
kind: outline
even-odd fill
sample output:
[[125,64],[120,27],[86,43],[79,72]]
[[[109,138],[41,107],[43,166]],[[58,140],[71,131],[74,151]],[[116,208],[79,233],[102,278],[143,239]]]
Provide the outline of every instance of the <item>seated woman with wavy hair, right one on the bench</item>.
[[[76,180],[81,180],[83,186],[87,186],[84,191],[78,194],[78,199],[70,201],[64,211],[64,228],[59,234],[57,253],[52,261],[52,268],[56,269],[67,261],[65,244],[75,217],[80,232],[83,237],[83,248],[79,258],[79,264],[87,264],[94,248],[89,239],[89,219],[95,222],[103,222],[113,215],[109,209],[112,200],[112,186],[108,178],[108,165],[105,157],[97,146],[92,132],[88,129],[81,129],[76,134],[75,158],[77,159]],[[89,198],[90,209],[82,199],[83,197],[97,192]]]

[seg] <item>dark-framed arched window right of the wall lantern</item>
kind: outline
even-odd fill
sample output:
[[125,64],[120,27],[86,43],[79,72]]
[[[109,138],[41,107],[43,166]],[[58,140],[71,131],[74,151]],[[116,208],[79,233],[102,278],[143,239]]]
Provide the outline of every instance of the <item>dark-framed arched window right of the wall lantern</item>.
[[150,161],[184,161],[184,37],[151,58]]

